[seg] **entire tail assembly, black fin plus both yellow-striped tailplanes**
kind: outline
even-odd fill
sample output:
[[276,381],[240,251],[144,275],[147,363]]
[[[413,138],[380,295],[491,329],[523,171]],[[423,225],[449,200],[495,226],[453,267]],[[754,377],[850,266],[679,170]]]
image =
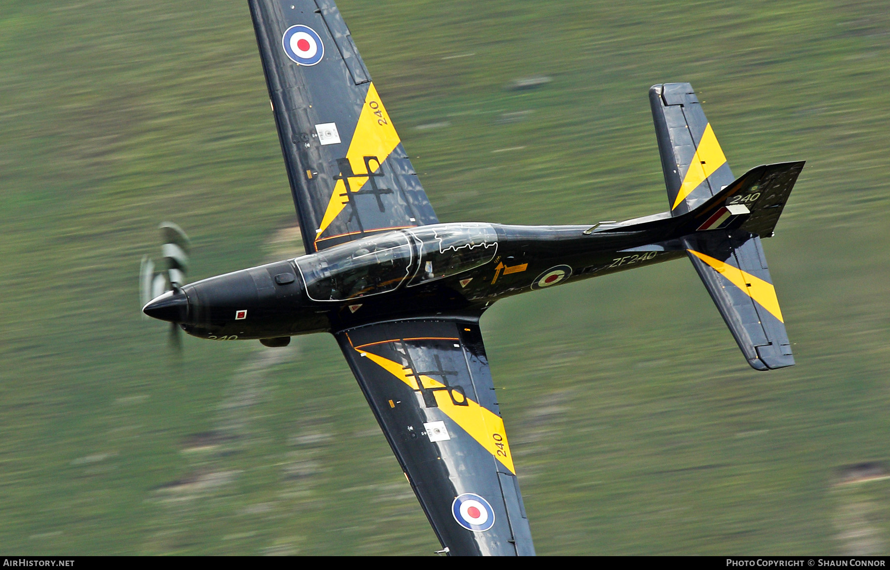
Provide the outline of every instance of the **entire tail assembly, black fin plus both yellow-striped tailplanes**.
[[666,229],[675,237],[651,246],[686,251],[748,364],[756,370],[794,365],[760,240],[773,236],[804,163],[757,166],[733,180],[692,85],[653,85],[649,100],[670,216],[603,231],[627,231],[628,224],[641,232]]

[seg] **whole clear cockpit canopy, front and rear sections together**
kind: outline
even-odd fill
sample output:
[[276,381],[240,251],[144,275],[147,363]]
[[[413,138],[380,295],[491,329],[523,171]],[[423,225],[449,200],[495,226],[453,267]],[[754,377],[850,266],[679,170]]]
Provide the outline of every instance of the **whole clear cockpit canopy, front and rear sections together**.
[[497,251],[490,224],[437,224],[336,245],[295,263],[310,299],[349,301],[392,291],[409,277],[410,287],[477,268]]

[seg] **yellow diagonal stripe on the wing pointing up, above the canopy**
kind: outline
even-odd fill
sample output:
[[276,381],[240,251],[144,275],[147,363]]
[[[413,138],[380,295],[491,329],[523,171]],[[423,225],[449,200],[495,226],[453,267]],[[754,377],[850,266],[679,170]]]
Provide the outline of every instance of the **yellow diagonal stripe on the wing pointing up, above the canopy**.
[[[389,157],[392,151],[399,146],[401,140],[399,133],[395,132],[392,126],[392,120],[384,108],[380,95],[377,94],[374,84],[368,86],[368,95],[365,97],[365,104],[361,108],[359,123],[355,125],[355,132],[352,133],[352,142],[349,144],[349,150],[346,152],[346,158],[353,168],[363,168],[365,157],[377,157],[383,164],[386,157]],[[361,166],[360,166],[361,165]],[[359,171],[360,172],[360,171]],[[354,178],[350,181],[350,186],[354,190],[360,189],[368,177]],[[328,210],[325,211],[325,217],[321,220],[321,227],[316,232],[317,236],[321,236],[325,229],[328,229],[336,217],[343,212],[346,199],[346,185],[344,181],[336,181],[334,193],[328,202]]]

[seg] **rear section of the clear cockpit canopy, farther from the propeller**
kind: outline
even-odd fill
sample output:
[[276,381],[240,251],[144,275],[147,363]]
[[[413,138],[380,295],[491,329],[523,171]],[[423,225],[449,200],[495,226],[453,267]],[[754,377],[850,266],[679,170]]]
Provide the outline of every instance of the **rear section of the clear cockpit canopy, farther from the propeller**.
[[410,231],[422,245],[420,269],[409,286],[477,268],[498,252],[498,233],[490,224],[442,224]]

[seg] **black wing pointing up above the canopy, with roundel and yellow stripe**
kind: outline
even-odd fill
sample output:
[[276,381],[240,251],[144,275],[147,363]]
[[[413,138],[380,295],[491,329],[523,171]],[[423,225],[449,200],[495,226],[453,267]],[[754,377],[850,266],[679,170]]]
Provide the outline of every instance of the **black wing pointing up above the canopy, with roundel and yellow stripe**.
[[249,0],[306,253],[436,223],[333,0]]

